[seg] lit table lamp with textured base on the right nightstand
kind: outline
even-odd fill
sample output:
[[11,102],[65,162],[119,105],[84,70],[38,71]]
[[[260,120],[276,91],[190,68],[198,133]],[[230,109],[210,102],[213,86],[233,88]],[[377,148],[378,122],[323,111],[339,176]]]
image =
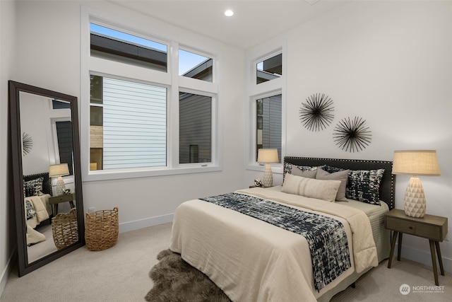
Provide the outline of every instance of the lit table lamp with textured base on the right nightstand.
[[425,214],[426,202],[421,180],[423,176],[439,176],[439,164],[435,150],[403,150],[394,151],[393,174],[412,175],[403,199],[405,214],[422,218]]

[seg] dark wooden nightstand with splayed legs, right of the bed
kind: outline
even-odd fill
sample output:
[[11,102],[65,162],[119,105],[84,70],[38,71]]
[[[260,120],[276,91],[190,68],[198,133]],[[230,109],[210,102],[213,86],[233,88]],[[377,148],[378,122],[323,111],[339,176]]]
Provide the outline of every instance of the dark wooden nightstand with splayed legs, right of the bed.
[[400,252],[402,251],[403,233],[422,238],[427,238],[430,243],[430,254],[432,255],[432,265],[435,284],[439,285],[435,253],[438,256],[439,269],[441,271],[441,275],[444,276],[443,259],[441,258],[441,250],[439,248],[439,243],[442,242],[447,235],[447,217],[425,214],[424,217],[422,218],[415,218],[405,215],[405,211],[403,210],[393,209],[388,214],[386,214],[385,226],[386,228],[393,231],[393,239],[391,242],[391,252],[388,260],[388,268],[391,268],[397,236],[398,236],[398,255],[397,255],[398,261],[400,261]]

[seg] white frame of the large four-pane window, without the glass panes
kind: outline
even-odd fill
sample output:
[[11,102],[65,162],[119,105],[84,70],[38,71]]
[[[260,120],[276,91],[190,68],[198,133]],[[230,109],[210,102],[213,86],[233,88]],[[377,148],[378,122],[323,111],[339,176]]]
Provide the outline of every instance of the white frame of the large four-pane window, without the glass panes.
[[[90,23],[96,23],[124,33],[143,37],[167,45],[167,72],[156,71],[139,66],[128,66],[121,62],[90,56]],[[145,28],[140,26],[139,28]],[[131,28],[124,21],[82,6],[81,13],[81,159],[83,181],[141,178],[158,175],[177,175],[203,173],[222,170],[220,156],[221,141],[220,115],[218,115],[218,56],[175,41],[168,34],[166,39],[143,30]],[[213,79],[206,82],[179,76],[178,50],[200,54],[213,59]],[[208,51],[208,50],[207,50]],[[121,73],[118,73],[118,70]],[[165,167],[90,170],[90,74],[113,77],[126,81],[136,81],[167,88],[167,165]],[[145,79],[145,80],[144,80]],[[197,93],[212,97],[212,141],[210,163],[179,163],[179,91]]]

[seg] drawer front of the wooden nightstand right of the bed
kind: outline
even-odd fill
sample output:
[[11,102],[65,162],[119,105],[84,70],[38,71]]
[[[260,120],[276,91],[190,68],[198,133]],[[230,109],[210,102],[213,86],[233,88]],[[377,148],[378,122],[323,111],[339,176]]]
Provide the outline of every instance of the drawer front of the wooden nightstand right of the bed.
[[439,226],[432,226],[431,224],[408,221],[396,217],[386,217],[386,228],[436,241],[443,240],[443,238],[440,238],[441,228]]

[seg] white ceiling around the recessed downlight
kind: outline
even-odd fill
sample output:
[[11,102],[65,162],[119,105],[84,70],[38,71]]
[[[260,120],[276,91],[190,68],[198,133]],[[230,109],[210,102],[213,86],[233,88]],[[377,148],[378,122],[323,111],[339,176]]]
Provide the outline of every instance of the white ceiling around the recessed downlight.
[[[112,0],[150,17],[246,50],[350,1]],[[226,9],[234,16],[226,17]]]

